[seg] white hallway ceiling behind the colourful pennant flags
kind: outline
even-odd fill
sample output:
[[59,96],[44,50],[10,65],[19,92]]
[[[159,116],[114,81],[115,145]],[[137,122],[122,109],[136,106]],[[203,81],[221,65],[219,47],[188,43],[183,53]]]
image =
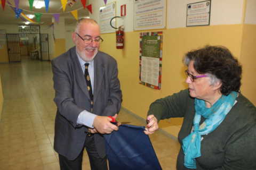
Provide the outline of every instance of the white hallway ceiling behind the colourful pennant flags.
[[[2,5],[0,5],[0,24],[15,24],[15,25],[22,25],[24,24],[24,21],[21,18],[15,18],[15,13],[12,10],[12,8],[8,5],[7,2],[10,2],[13,6],[15,5],[14,0],[6,0],[5,3],[5,10],[3,10]],[[34,0],[34,4],[37,0]],[[87,2],[88,3],[88,2]],[[88,5],[88,4],[86,4]],[[24,14],[33,14],[33,13],[43,13],[41,16],[41,24],[49,25],[52,22],[52,14],[53,13],[59,13],[60,17],[65,17],[65,24],[74,24],[76,22],[76,19],[74,16],[70,13],[71,11],[77,10],[81,8],[81,10],[78,10],[78,18],[89,16],[89,11],[87,8],[83,8],[83,5],[80,0],[76,0],[76,3],[73,4],[73,6],[66,5],[66,10],[63,12],[61,0],[50,0],[49,3],[49,10],[48,12],[45,11],[45,6],[43,6],[41,9],[37,9],[33,7],[33,11],[30,11],[29,8],[29,1],[28,0],[20,0],[19,8],[21,8]],[[27,10],[27,11],[25,11]],[[32,19],[36,21],[36,19]]]

